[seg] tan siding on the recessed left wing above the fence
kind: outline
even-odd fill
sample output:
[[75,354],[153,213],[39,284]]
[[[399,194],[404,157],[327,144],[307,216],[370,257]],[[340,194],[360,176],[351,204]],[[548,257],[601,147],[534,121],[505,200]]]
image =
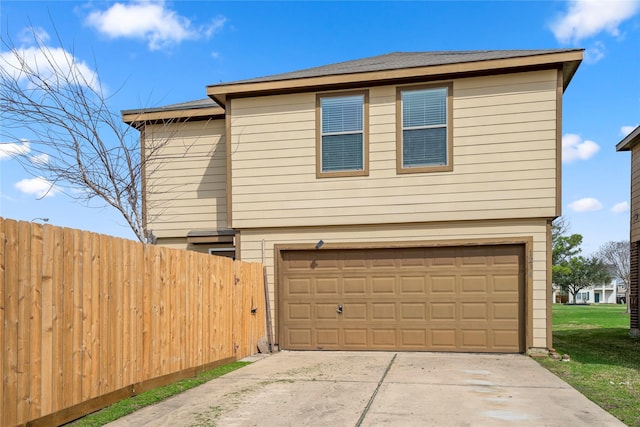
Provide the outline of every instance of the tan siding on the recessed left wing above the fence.
[[162,239],[226,228],[224,120],[147,125],[145,143],[148,150],[158,147],[145,170],[146,216],[153,234],[173,242]]

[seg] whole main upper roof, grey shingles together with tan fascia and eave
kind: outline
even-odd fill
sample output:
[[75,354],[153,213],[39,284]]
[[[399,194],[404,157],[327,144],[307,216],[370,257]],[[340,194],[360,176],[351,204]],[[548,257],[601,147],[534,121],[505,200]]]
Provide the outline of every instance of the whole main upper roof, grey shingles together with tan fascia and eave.
[[394,52],[213,84],[207,86],[207,95],[224,106],[227,97],[357,88],[550,68],[563,70],[563,87],[566,88],[582,61],[583,52],[584,49]]

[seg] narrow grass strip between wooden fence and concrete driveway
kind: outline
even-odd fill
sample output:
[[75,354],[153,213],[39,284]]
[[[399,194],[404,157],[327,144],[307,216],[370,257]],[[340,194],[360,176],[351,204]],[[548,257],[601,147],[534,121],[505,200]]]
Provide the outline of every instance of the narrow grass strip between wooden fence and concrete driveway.
[[111,406],[107,406],[98,412],[89,414],[68,425],[74,427],[95,427],[108,424],[118,418],[135,412],[138,409],[144,408],[145,406],[153,405],[154,403],[199,386],[200,384],[206,383],[214,378],[221,377],[231,371],[240,369],[249,363],[250,362],[233,362],[228,365],[219,366],[210,371],[203,372],[193,378],[187,378],[173,384],[145,391],[144,393],[140,393],[136,396],[121,400],[118,403],[114,403]]

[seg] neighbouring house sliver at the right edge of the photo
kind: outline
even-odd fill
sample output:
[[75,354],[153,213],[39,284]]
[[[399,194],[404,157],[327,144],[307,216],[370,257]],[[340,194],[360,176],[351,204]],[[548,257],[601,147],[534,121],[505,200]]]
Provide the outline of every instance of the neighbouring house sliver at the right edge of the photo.
[[617,151],[631,151],[631,280],[629,283],[630,332],[640,336],[640,126],[616,145]]

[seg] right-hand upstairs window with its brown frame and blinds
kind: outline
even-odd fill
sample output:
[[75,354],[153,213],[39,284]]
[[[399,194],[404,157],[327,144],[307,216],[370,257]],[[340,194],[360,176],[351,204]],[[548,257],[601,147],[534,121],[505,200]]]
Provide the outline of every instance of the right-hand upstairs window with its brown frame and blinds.
[[451,85],[398,88],[398,173],[453,169]]

